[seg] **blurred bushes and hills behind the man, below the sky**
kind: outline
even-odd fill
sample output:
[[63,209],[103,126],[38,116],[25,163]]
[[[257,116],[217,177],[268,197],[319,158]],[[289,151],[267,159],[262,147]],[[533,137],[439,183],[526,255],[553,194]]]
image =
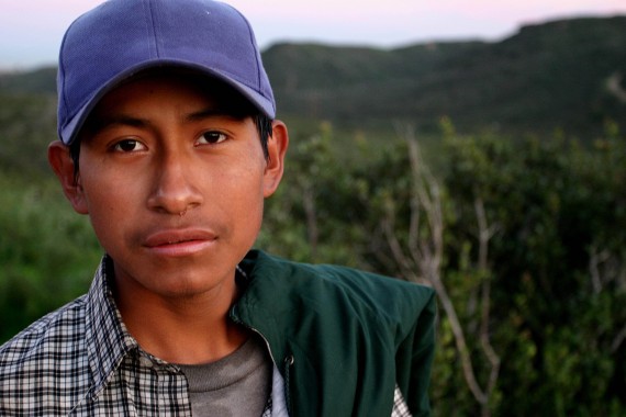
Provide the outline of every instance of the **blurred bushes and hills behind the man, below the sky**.
[[[626,415],[625,23],[265,53],[292,144],[257,246],[434,285],[436,416]],[[0,341],[101,256],[47,168],[54,72],[0,75]]]

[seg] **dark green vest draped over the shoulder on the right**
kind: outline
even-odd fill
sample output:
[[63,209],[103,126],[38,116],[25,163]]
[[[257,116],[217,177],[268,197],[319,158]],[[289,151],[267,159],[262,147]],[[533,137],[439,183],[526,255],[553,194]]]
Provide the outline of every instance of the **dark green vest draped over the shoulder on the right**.
[[428,416],[435,295],[429,288],[253,250],[231,317],[265,337],[290,416],[390,416],[395,385]]

